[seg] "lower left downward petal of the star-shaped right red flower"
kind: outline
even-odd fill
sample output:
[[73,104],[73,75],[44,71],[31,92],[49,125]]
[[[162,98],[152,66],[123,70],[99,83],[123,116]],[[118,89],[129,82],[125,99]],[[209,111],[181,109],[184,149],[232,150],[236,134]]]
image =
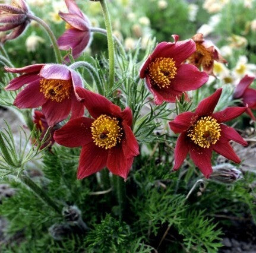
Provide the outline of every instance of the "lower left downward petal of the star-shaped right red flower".
[[178,170],[184,162],[189,151],[189,146],[187,143],[187,135],[185,132],[179,135],[176,142],[175,151],[174,151],[174,166],[173,170]]

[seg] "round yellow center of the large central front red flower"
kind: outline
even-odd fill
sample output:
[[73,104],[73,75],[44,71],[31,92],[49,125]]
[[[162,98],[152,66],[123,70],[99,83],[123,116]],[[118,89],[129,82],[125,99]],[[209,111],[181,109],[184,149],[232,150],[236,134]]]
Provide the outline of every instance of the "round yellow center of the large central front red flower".
[[93,142],[103,148],[115,147],[120,143],[122,137],[122,128],[116,118],[108,115],[100,115],[91,124],[91,135]]

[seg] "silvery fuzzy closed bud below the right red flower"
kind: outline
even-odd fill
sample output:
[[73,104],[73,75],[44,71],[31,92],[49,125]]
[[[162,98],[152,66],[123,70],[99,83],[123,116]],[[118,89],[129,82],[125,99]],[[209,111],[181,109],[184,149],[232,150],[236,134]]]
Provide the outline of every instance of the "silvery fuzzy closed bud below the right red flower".
[[221,165],[216,165],[213,167],[213,173],[210,179],[217,182],[222,182],[226,184],[231,184],[238,181],[242,177],[240,170],[236,169],[230,163],[222,163]]

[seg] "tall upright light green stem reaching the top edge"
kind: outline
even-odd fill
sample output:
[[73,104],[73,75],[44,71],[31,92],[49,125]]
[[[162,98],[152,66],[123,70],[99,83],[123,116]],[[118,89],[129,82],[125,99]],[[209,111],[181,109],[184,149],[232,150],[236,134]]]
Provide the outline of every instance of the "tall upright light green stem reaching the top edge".
[[112,36],[112,26],[110,22],[110,15],[106,0],[100,0],[100,5],[102,6],[103,17],[105,21],[105,26],[107,30],[107,39],[108,39],[108,50],[109,50],[109,90],[114,85],[115,78],[115,55],[114,55],[114,42]]

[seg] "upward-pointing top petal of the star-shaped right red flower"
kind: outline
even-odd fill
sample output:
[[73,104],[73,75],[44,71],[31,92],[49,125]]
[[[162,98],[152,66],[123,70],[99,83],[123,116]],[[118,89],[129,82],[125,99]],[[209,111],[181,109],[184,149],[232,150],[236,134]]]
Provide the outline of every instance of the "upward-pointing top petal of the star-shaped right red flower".
[[222,94],[222,88],[218,88],[211,96],[207,97],[206,99],[203,99],[199,103],[199,105],[197,106],[197,109],[195,110],[195,113],[198,116],[211,115],[220,99],[221,94]]

